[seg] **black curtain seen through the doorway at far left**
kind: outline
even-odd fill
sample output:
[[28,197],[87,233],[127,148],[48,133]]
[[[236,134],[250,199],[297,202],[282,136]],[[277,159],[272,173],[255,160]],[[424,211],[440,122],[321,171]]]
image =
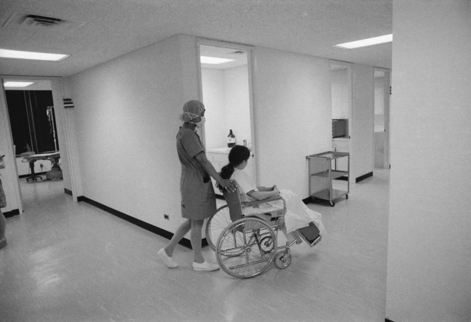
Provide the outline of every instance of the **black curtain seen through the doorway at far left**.
[[48,114],[48,106],[53,106],[52,91],[6,90],[5,94],[16,154],[51,152],[55,146],[58,150],[54,109]]

